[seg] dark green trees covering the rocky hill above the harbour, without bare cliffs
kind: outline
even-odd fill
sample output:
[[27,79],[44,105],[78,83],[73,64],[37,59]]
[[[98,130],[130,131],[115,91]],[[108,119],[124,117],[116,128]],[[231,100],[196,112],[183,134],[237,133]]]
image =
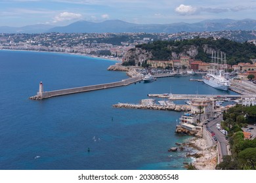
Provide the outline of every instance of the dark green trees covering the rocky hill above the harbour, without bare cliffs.
[[152,52],[153,58],[158,60],[169,60],[172,53],[181,54],[194,46],[198,54],[193,59],[210,62],[211,54],[205,53],[205,48],[212,48],[216,51],[226,53],[227,63],[235,65],[240,62],[250,62],[249,59],[255,59],[256,46],[249,42],[234,42],[228,39],[213,39],[213,37],[184,39],[181,41],[155,41],[150,44],[139,44],[136,47]]

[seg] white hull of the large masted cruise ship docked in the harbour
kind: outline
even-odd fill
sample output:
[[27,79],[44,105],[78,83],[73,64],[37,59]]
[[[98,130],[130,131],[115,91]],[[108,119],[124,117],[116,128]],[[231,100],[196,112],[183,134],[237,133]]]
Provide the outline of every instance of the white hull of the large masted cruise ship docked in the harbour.
[[213,88],[224,91],[227,91],[230,86],[230,81],[224,78],[223,71],[219,71],[219,75],[207,73],[207,75],[203,76],[203,82]]

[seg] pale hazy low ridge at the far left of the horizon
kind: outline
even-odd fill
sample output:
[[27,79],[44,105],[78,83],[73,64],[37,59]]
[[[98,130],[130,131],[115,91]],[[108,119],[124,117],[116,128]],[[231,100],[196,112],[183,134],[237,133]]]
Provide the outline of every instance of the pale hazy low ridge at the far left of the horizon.
[[54,25],[45,24],[27,25],[24,27],[3,26],[0,27],[0,33],[45,33],[53,27]]

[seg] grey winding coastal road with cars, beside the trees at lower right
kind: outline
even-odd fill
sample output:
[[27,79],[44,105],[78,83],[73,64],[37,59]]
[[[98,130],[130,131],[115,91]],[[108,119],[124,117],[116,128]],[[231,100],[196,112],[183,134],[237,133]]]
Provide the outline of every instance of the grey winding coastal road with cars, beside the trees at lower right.
[[226,141],[225,135],[223,135],[223,133],[221,133],[216,127],[216,124],[217,123],[220,124],[222,119],[223,119],[223,116],[219,116],[219,118],[216,118],[215,120],[212,120],[211,122],[209,122],[207,126],[209,127],[209,129],[211,129],[211,131],[215,133],[215,137],[221,144],[221,155],[226,156],[228,155],[228,150],[226,148],[226,144],[228,143],[228,141]]

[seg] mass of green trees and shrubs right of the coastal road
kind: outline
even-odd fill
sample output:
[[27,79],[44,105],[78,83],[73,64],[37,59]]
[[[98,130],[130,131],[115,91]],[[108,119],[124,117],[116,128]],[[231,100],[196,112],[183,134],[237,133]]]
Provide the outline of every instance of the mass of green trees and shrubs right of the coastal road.
[[256,169],[256,139],[244,139],[241,127],[255,123],[256,106],[236,105],[223,114],[223,127],[228,131],[231,156],[224,156],[216,169]]

